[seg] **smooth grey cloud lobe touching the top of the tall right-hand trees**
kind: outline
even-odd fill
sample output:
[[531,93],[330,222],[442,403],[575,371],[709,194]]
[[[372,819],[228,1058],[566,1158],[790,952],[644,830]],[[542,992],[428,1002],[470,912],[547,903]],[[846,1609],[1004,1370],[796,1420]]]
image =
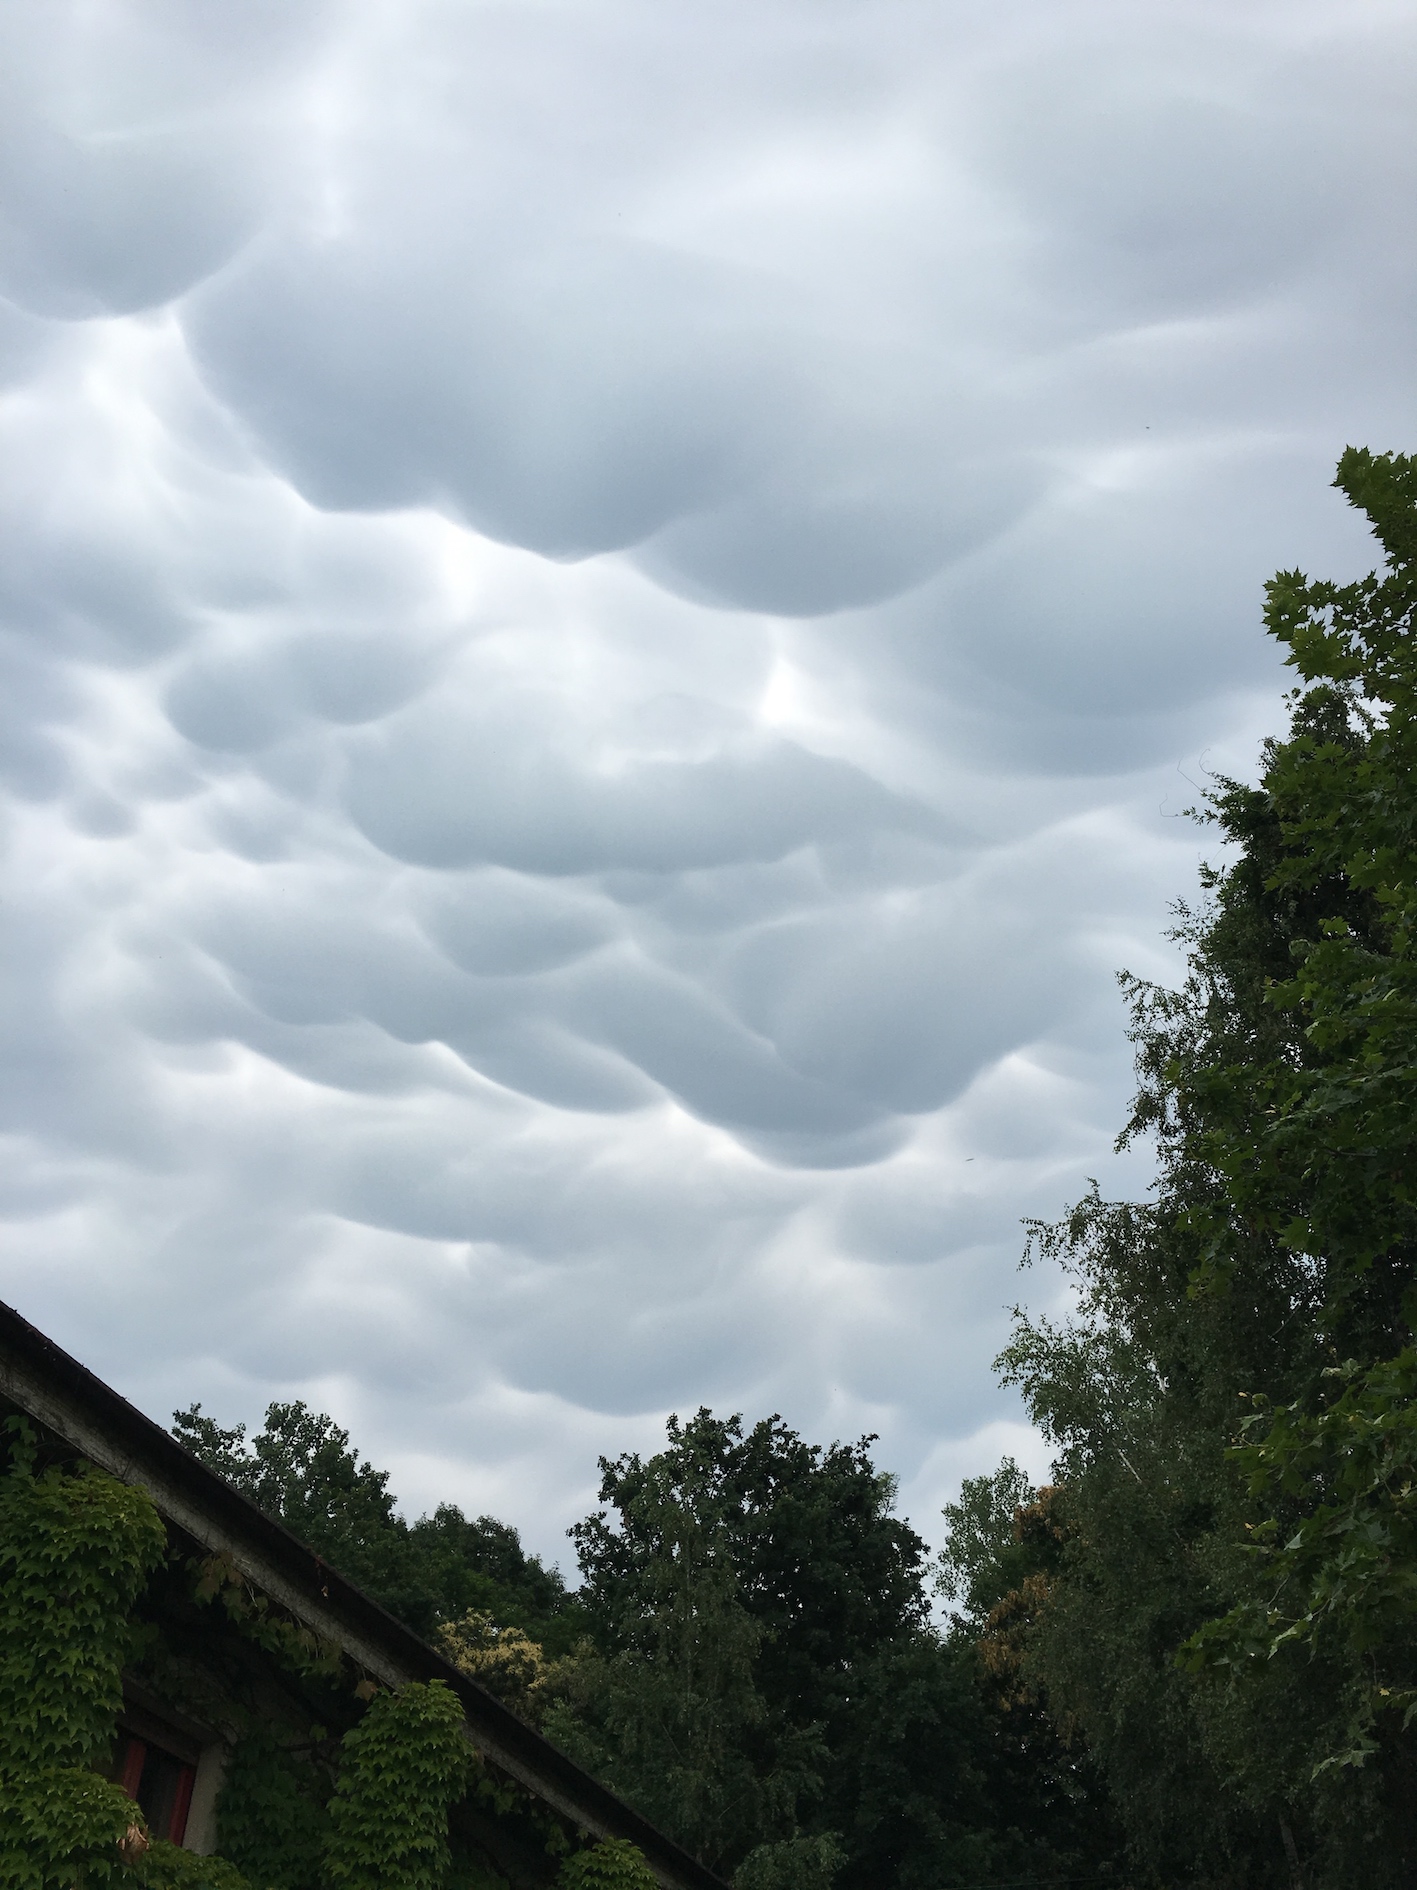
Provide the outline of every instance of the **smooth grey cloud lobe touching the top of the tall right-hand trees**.
[[1358,575],[1372,541],[1307,440],[1135,446],[869,616],[820,626],[897,728],[1007,777],[1126,775],[1213,747],[1226,692],[1285,688],[1262,586]]

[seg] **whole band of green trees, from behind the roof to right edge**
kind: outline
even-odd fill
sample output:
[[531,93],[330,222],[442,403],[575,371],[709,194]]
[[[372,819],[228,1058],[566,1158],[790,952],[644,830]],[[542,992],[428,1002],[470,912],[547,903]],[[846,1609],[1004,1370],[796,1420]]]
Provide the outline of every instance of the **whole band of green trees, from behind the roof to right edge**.
[[1200,811],[1183,987],[1124,979],[1156,1187],[1032,1230],[1047,1487],[967,1482],[931,1567],[871,1438],[701,1410],[603,1461],[567,1591],[304,1406],[178,1419],[739,1890],[1417,1882],[1417,461],[1338,486],[1385,569],[1270,584],[1289,733]]

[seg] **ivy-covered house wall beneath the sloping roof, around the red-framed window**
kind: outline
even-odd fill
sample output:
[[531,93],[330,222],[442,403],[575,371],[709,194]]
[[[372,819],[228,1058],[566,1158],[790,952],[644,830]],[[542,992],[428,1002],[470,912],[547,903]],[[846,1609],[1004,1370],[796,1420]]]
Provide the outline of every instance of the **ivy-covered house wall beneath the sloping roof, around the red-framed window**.
[[[0,1406],[0,1890],[654,1890],[480,1760],[438,1680],[380,1688]],[[227,1750],[221,1856],[147,1831],[104,1773],[125,1678]]]

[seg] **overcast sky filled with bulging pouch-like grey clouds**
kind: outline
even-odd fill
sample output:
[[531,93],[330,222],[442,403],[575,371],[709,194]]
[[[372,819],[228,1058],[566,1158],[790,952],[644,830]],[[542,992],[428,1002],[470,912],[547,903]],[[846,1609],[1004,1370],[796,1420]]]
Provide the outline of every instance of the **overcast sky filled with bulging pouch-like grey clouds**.
[[1394,0],[9,0],[0,1297],[567,1563],[1047,1452],[1020,1223],[1417,448]]

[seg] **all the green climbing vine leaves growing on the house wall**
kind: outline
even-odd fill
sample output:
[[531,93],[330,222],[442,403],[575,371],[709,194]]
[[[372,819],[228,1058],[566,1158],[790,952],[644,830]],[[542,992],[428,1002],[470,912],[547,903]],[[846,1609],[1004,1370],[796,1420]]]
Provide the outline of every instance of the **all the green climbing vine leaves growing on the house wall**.
[[[493,1816],[538,1830],[548,1858],[569,1848],[557,1818],[480,1763],[448,1686],[382,1692],[367,1678],[353,1688],[367,1707],[338,1748],[323,1727],[300,1746],[259,1722],[236,1743],[219,1799],[229,1858],[151,1839],[138,1805],[93,1767],[113,1743],[162,1520],[144,1489],[93,1465],[40,1467],[28,1419],[6,1419],[0,1438],[0,1890],[442,1890],[448,1813],[469,1786]],[[191,1599],[283,1671],[348,1686],[340,1650],[229,1557],[195,1565]],[[656,1879],[633,1845],[610,1839],[565,1856],[557,1882],[654,1890]]]

